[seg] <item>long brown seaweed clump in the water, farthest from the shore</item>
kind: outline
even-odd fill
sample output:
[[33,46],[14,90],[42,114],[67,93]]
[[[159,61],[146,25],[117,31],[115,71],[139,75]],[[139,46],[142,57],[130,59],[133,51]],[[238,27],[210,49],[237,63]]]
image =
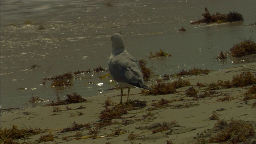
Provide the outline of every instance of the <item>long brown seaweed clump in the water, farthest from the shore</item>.
[[242,14],[238,12],[229,12],[228,14],[220,14],[216,12],[216,14],[210,14],[207,8],[204,8],[205,13],[202,14],[204,19],[190,22],[190,24],[202,24],[202,23],[225,23],[225,22],[238,22],[243,21],[244,18]]

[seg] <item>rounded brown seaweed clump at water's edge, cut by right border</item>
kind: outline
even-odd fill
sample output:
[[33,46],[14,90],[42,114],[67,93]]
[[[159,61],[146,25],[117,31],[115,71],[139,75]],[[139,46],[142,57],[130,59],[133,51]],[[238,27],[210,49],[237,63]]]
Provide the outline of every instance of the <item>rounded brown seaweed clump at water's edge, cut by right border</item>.
[[256,54],[256,43],[252,41],[252,38],[249,40],[244,39],[239,44],[235,44],[230,48],[230,54],[234,57]]

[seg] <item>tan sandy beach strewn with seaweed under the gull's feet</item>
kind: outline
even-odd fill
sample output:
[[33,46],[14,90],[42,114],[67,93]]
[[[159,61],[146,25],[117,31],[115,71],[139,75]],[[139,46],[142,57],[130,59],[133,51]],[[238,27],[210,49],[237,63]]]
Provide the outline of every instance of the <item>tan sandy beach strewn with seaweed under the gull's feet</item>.
[[[250,86],[239,88],[222,88],[214,90],[216,93],[204,98],[186,96],[186,90],[193,86],[201,94],[206,87],[199,87],[197,83],[209,85],[218,80],[230,80],[243,70],[250,71],[255,76],[256,66],[234,67],[207,75],[189,76],[182,80],[189,80],[190,86],[176,89],[176,94],[144,96],[140,89],[132,88],[130,100],[146,101],[146,106],[136,110],[128,110],[122,118],[112,120],[108,126],[98,127],[100,113],[105,110],[106,100],[114,103],[120,101],[120,90],[108,94],[86,98],[89,102],[57,106],[59,112],[53,112],[53,106],[40,106],[25,110],[1,111],[1,127],[12,128],[40,128],[44,133],[29,136],[18,142],[35,142],[40,137],[51,135],[56,143],[88,143],[88,144],[186,144],[199,143],[204,139],[216,136],[220,129],[216,126],[220,122],[230,124],[242,120],[252,124],[255,133],[256,108],[255,99],[243,101],[245,92]],[[124,90],[127,94],[127,90]],[[228,97],[227,97],[228,96]],[[225,99],[228,98],[228,99]],[[156,107],[161,99],[170,103],[163,107]],[[126,96],[123,97],[126,100]],[[115,105],[115,104],[114,104]],[[76,109],[80,106],[86,107]],[[112,108],[113,106],[109,106]],[[90,124],[90,128],[61,132],[74,124]],[[96,135],[93,132],[97,132]],[[89,134],[90,133],[90,134]],[[256,142],[254,136],[246,139],[248,144]]]

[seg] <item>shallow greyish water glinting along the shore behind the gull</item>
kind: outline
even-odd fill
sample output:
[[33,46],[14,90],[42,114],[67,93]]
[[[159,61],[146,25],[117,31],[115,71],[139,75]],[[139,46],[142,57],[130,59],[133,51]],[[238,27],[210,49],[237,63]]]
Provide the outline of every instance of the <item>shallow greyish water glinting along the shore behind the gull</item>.
[[[220,70],[255,62],[254,56],[228,58],[220,61],[240,38],[256,38],[256,2],[253,0],[1,0],[1,108],[28,108],[32,96],[56,100],[56,94],[77,92],[87,97],[104,94],[115,85],[110,78],[99,76],[108,72],[77,75],[73,86],[54,88],[43,78],[78,70],[108,67],[111,52],[110,36],[122,32],[130,54],[146,59],[147,67],[158,75],[174,74],[182,69]],[[211,14],[237,11],[243,22],[190,25],[202,19],[207,7]],[[25,21],[36,23],[25,24]],[[38,30],[43,25],[44,30]],[[178,32],[184,27],[186,32]],[[168,58],[148,59],[162,48],[172,54]],[[32,65],[38,68],[27,69]],[[52,68],[46,72],[50,66]],[[88,82],[92,82],[88,84]],[[26,90],[17,90],[27,88]]]

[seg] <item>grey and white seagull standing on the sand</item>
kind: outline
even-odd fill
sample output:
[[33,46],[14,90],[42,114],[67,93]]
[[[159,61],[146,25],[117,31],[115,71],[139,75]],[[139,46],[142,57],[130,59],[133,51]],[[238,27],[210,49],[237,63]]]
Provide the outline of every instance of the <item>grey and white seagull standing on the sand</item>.
[[112,54],[108,61],[108,69],[111,77],[118,82],[121,88],[120,104],[122,104],[123,88],[128,88],[127,102],[131,87],[154,91],[144,85],[143,74],[138,60],[125,50],[122,35],[114,33],[110,40],[112,41]]

